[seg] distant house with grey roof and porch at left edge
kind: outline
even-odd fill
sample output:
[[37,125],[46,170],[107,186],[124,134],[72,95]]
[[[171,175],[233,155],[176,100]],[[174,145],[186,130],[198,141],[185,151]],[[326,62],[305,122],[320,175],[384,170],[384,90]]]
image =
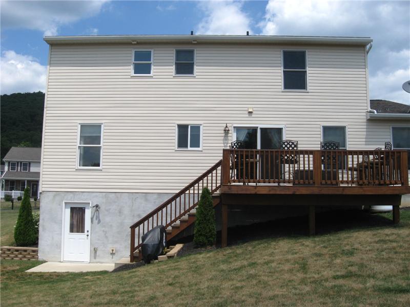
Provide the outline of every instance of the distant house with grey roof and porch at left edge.
[[11,147],[3,161],[5,172],[2,175],[1,197],[10,194],[14,198],[23,196],[26,187],[30,187],[30,196],[39,197],[41,148]]

